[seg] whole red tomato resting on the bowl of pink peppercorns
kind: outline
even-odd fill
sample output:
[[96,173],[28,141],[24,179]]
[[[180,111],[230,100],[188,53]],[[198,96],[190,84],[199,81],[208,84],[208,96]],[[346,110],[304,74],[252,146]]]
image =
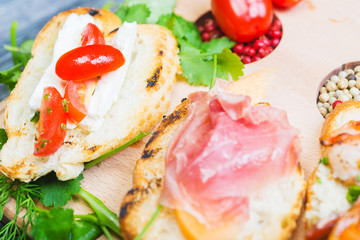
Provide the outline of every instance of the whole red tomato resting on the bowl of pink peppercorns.
[[221,30],[237,42],[265,34],[273,19],[271,0],[211,0],[211,10]]

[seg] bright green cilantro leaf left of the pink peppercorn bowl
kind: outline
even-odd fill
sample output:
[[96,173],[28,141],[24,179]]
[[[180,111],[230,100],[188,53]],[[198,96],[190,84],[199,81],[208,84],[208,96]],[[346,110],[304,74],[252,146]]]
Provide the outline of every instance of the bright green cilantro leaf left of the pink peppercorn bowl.
[[200,47],[202,44],[200,32],[196,25],[174,13],[161,16],[157,24],[170,29],[178,40],[186,40],[195,47]]

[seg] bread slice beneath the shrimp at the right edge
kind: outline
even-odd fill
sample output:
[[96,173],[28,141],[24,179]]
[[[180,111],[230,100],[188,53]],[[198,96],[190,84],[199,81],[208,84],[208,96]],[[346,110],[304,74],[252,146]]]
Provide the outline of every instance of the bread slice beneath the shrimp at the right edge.
[[[360,102],[358,101],[347,101],[337,105],[328,115],[320,136],[322,155],[325,155],[326,147],[331,147],[325,146],[322,141],[331,136],[344,134],[343,127],[351,121],[360,121]],[[336,144],[341,145],[342,143]],[[320,163],[317,166],[308,180],[305,212],[307,231],[317,225],[324,226],[328,222],[336,220],[351,208],[352,204],[346,199],[348,188],[348,183],[334,176],[331,163]]]

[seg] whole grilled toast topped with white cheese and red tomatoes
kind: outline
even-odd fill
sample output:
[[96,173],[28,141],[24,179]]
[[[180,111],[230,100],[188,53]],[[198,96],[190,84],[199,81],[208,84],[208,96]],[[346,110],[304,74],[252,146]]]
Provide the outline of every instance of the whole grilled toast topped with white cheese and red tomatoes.
[[104,9],[53,17],[8,98],[0,172],[73,179],[84,162],[149,131],[169,106],[177,52],[166,28],[121,23]]

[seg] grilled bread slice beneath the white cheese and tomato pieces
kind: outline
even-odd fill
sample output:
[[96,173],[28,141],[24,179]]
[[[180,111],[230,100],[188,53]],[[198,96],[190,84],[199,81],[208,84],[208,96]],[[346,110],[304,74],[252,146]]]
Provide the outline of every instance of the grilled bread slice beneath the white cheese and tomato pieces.
[[92,15],[107,43],[121,25],[120,19],[110,11],[78,8],[53,17],[40,31],[32,49],[33,57],[11,92],[5,110],[9,139],[0,153],[0,171],[9,178],[28,182],[51,171],[60,180],[75,178],[83,170],[84,162],[124,144],[141,131],[149,131],[169,106],[179,62],[176,39],[164,27],[138,25],[126,78],[101,127],[95,131],[80,127],[67,130],[64,143],[56,153],[35,157],[38,131],[37,124],[30,122],[33,114],[29,99],[52,60],[58,31],[72,13]]

